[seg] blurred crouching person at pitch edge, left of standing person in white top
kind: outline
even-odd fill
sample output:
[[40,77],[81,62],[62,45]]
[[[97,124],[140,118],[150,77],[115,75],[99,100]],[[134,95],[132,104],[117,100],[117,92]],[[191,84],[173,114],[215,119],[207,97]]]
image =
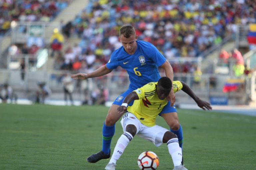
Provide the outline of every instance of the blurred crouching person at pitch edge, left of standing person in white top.
[[36,91],[36,103],[44,104],[45,98],[49,96],[51,93],[50,88],[46,85],[45,82],[39,82],[38,84],[39,90]]

